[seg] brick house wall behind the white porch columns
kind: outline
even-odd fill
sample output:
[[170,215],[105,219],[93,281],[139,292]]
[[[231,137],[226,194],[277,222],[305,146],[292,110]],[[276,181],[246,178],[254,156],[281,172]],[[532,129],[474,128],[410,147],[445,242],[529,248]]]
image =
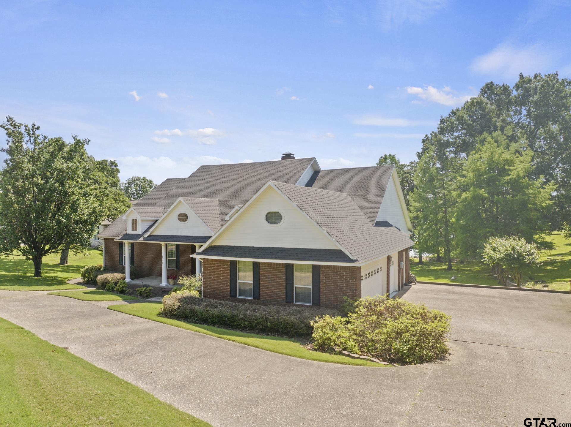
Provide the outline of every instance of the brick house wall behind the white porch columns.
[[[180,245],[180,269],[168,269],[168,274],[196,274],[196,259],[190,255],[196,252],[194,245]],[[160,243],[135,243],[135,269],[142,276],[162,275],[162,253]],[[125,271],[119,265],[119,242],[105,239],[105,268],[112,271]]]

